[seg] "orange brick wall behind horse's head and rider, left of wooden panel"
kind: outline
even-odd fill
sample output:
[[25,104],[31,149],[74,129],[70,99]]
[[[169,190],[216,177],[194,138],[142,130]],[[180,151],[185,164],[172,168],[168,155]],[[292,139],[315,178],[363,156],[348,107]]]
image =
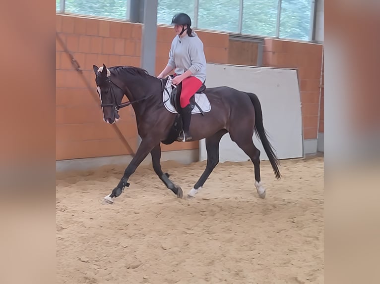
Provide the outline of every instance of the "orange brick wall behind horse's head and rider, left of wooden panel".
[[[95,93],[93,64],[140,66],[141,24],[57,14],[57,32],[80,64]],[[208,62],[228,62],[228,35],[198,32]],[[156,74],[166,66],[173,29],[157,28]],[[86,88],[70,58],[56,42],[56,159],[130,154],[110,125],[103,122],[99,101]],[[123,108],[118,122],[132,149],[137,146],[133,109]],[[163,145],[164,151],[196,149],[198,142]]]

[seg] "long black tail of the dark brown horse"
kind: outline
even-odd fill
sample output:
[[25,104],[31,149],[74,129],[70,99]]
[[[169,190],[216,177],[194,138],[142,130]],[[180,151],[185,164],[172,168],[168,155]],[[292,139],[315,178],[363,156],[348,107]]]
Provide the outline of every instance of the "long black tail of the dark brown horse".
[[276,179],[279,180],[281,178],[280,170],[278,169],[280,162],[279,162],[276,154],[274,153],[274,149],[273,149],[272,145],[268,141],[267,134],[266,134],[266,131],[264,129],[264,125],[262,123],[262,109],[261,109],[260,101],[259,101],[257,95],[255,95],[253,93],[246,93],[246,94],[249,95],[249,97],[253,103],[253,107],[254,107],[254,113],[255,113],[254,133],[260,139],[260,141],[264,147],[265,153],[269,158],[269,162],[272,165],[274,175],[275,175]]

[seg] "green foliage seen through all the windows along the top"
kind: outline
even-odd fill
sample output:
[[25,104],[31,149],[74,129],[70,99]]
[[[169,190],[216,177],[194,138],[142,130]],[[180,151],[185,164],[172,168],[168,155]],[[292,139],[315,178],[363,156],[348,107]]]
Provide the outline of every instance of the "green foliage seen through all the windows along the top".
[[[57,11],[60,1],[68,13],[127,19],[127,0],[56,0]],[[158,0],[157,23],[169,25],[176,13],[184,12],[199,29],[276,36],[278,0],[244,0],[241,31],[239,9],[240,0],[198,0],[196,21],[194,0]],[[280,38],[309,41],[310,22],[311,0],[281,0]]]

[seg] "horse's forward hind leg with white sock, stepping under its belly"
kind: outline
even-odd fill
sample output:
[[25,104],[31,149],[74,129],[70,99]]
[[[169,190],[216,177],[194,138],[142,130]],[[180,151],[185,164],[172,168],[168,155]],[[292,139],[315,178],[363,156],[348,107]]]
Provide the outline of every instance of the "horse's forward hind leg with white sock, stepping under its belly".
[[203,187],[207,178],[210,176],[211,172],[214,170],[216,165],[219,163],[219,142],[223,135],[227,133],[227,130],[223,129],[215,133],[213,136],[206,138],[206,151],[207,151],[207,165],[203,174],[200,176],[199,180],[196,182],[193,189],[188,193],[189,197],[194,197],[194,195]]

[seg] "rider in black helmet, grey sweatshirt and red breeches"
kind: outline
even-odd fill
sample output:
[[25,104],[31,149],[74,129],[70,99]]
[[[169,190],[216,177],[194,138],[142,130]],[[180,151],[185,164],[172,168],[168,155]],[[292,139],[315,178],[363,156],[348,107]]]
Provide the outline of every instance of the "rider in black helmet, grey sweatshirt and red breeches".
[[182,82],[180,104],[184,124],[184,142],[192,139],[190,135],[191,106],[190,98],[206,80],[206,58],[203,43],[192,31],[191,19],[185,13],[178,13],[172,19],[176,36],[169,51],[168,64],[157,76],[164,78],[175,69],[172,83]]

